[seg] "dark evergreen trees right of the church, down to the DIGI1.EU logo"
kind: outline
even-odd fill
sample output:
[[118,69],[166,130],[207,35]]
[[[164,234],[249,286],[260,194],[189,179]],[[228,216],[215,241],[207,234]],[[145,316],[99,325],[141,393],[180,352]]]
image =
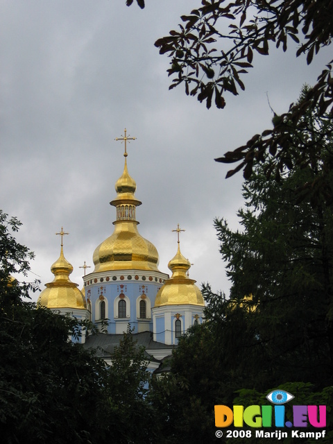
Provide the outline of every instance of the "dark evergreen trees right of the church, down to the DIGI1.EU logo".
[[[306,93],[307,87],[301,95]],[[305,185],[321,180],[318,171],[333,139],[325,116],[314,110],[304,119],[309,130],[291,136],[312,141],[316,155],[307,167],[285,168],[277,182],[256,166],[244,184],[241,228],[232,230],[225,219],[214,222],[230,297],[203,288],[205,323],[182,336],[173,353],[173,379],[155,390],[155,402],[164,402],[167,422],[177,438],[189,437],[185,442],[215,442],[209,435],[214,404],[262,404],[275,388],[297,393],[296,404],[311,399],[330,405],[333,210]],[[332,173],[325,180],[331,186]]]

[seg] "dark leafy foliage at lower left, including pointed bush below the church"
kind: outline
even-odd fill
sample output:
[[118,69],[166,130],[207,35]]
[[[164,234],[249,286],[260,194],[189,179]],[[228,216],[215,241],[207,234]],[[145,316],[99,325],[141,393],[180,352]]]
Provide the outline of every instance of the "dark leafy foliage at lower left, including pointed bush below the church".
[[33,257],[13,236],[20,225],[0,211],[1,442],[154,442],[143,350],[128,332],[108,368],[69,340],[85,324],[24,302],[36,287],[11,276],[26,274]]

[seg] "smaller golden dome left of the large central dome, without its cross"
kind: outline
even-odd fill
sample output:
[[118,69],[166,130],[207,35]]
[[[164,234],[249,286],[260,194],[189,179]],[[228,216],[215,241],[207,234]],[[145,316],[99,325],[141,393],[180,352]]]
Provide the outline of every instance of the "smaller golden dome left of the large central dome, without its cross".
[[69,275],[73,271],[73,266],[65,259],[62,246],[60,257],[51,266],[51,271],[55,278],[53,282],[46,284],[46,289],[40,293],[37,305],[52,309],[86,309],[85,298],[77,288],[78,284],[74,284],[74,282],[71,282],[69,279]]

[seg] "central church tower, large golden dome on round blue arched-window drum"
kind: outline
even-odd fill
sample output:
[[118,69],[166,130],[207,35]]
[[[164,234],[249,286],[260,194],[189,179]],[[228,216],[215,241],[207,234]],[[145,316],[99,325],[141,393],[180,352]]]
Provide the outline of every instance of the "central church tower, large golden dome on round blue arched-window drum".
[[128,325],[135,333],[153,331],[151,307],[157,291],[169,275],[158,268],[158,253],[138,230],[137,207],[142,203],[135,197],[136,183],[127,167],[126,143],[135,137],[125,135],[123,173],[117,180],[116,198],[110,205],[116,208],[114,232],[94,251],[94,271],[83,277],[87,308],[91,320],[99,323],[108,319],[108,333],[126,332]]

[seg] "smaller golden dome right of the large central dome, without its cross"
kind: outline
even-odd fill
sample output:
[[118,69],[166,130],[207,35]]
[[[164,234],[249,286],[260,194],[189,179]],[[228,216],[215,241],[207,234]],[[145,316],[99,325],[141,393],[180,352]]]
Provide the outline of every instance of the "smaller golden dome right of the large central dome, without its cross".
[[170,279],[164,282],[163,287],[158,291],[155,299],[155,307],[161,305],[205,305],[203,302],[203,295],[198,287],[195,285],[195,280],[189,279],[187,270],[191,264],[180,253],[180,246],[178,241],[178,251],[176,256],[171,259],[168,264],[172,271]]

